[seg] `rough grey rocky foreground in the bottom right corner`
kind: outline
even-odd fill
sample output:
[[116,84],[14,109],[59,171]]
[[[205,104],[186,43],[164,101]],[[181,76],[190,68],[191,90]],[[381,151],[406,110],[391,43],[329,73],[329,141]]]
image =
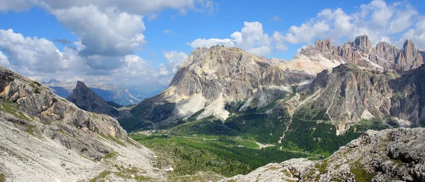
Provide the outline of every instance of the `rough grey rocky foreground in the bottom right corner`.
[[223,181],[425,181],[425,128],[367,131],[328,159],[290,159]]

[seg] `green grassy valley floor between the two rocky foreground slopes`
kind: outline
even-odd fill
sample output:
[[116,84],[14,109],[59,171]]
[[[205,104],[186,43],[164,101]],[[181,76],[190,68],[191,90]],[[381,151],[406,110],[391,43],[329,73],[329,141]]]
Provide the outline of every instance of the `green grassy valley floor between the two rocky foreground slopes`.
[[130,137],[157,152],[157,166],[162,169],[172,166],[176,176],[194,175],[198,171],[234,176],[247,174],[271,162],[307,157],[307,154],[285,152],[278,147],[259,150],[254,142],[220,136],[203,139],[132,134]]

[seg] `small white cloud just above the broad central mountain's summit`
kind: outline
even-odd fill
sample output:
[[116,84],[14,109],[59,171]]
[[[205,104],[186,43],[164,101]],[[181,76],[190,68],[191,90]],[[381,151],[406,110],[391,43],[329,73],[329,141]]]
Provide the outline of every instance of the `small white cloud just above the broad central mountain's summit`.
[[197,39],[188,45],[193,48],[212,47],[217,44],[239,47],[257,56],[271,54],[273,49],[270,37],[263,32],[263,25],[259,22],[244,22],[244,28],[240,32],[234,32],[230,37],[232,39]]

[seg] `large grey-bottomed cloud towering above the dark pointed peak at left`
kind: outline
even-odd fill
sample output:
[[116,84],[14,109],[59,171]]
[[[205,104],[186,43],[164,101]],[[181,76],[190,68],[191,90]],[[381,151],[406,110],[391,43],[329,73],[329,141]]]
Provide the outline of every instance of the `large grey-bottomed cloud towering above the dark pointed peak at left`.
[[125,56],[142,44],[145,30],[142,16],[118,12],[115,8],[101,11],[96,6],[72,7],[52,11],[63,25],[84,45],[82,56]]

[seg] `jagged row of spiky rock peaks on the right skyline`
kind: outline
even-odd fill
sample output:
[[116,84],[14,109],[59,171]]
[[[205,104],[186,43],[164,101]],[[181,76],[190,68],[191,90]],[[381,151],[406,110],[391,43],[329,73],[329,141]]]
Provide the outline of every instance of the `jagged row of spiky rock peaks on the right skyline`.
[[368,36],[356,37],[354,42],[334,46],[331,40],[317,40],[314,47],[302,49],[305,56],[321,54],[327,59],[341,63],[356,63],[361,66],[379,69],[391,69],[399,72],[419,68],[424,63],[424,58],[414,47],[412,40],[406,40],[403,48],[399,49],[387,42],[378,42],[372,47]]

